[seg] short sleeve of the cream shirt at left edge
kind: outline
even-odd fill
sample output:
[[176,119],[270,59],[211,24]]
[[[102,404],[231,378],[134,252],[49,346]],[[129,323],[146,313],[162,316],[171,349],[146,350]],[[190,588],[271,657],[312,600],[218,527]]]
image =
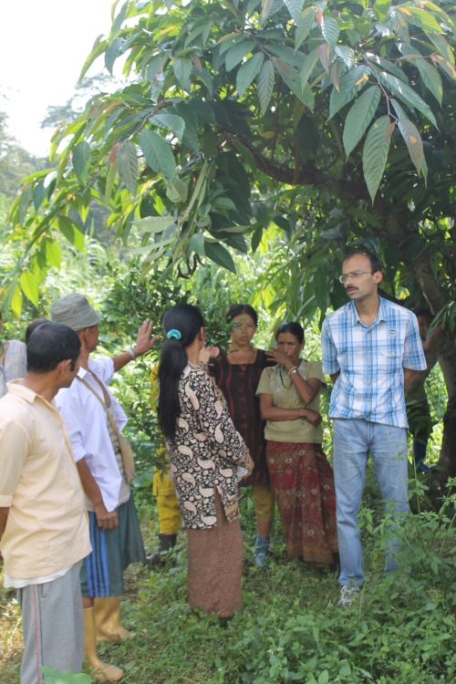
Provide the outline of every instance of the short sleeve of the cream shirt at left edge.
[[14,420],[0,422],[0,508],[9,508],[30,449],[26,430]]

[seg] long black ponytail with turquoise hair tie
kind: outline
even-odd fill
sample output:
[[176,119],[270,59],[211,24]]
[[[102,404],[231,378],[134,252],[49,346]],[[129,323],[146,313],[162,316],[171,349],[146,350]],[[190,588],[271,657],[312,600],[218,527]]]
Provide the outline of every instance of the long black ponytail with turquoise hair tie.
[[176,422],[181,414],[178,385],[188,364],[189,347],[204,326],[200,309],[191,304],[177,304],[165,312],[162,325],[166,341],[161,347],[159,366],[159,424],[164,436],[174,440]]

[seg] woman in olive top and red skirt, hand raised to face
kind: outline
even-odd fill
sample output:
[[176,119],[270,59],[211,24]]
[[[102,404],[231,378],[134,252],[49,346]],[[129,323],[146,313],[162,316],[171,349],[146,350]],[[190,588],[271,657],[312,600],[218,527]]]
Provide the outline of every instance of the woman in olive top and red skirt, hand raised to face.
[[289,558],[334,563],[337,553],[333,472],[322,451],[318,395],[321,364],[299,358],[304,330],[297,323],[278,327],[277,362],[263,371],[257,394],[266,419],[266,454],[284,527]]

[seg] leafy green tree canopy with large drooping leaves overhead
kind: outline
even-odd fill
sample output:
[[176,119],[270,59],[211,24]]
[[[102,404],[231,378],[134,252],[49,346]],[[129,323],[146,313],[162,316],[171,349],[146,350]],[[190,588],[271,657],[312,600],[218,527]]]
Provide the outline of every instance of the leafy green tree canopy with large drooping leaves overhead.
[[314,202],[325,220],[356,207],[358,223],[377,216],[394,233],[395,211],[427,218],[430,189],[433,218],[450,215],[448,163],[437,168],[433,150],[451,153],[453,12],[450,0],[119,6],[82,76],[101,55],[110,72],[122,58],[130,84],[58,130],[56,168],[17,197],[11,219],[29,248],[13,306],[55,264],[56,232],[82,246],[93,202],[123,240],[140,235],[143,275],[163,257],[188,273],[203,259],[234,271],[227,247],[255,250],[271,221],[292,234]]

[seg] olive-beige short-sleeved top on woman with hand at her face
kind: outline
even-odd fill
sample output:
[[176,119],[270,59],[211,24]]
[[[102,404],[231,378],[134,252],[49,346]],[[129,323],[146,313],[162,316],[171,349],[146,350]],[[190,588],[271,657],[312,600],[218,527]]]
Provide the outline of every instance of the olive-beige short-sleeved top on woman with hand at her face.
[[[281,372],[282,370],[282,372]],[[308,380],[309,378],[317,378],[323,383],[325,376],[321,369],[319,361],[301,361],[299,365],[299,375]],[[273,368],[264,368],[261,375],[256,394],[270,394],[273,398],[273,406],[279,409],[312,409],[320,412],[319,395],[306,404],[297,394],[293,380],[288,376],[288,373],[280,366]],[[323,441],[323,428],[318,425],[314,428],[305,418],[298,418],[296,420],[267,420],[264,429],[264,437],[271,441],[289,441],[289,442],[312,442],[321,444]]]

